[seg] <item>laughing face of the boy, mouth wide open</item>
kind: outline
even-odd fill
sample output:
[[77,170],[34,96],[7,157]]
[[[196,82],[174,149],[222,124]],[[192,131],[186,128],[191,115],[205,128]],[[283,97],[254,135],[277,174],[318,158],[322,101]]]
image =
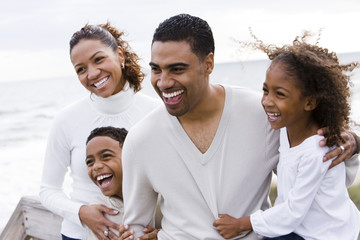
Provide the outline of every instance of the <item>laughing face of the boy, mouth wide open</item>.
[[105,196],[122,198],[121,151],[120,143],[106,136],[94,137],[86,145],[88,175]]

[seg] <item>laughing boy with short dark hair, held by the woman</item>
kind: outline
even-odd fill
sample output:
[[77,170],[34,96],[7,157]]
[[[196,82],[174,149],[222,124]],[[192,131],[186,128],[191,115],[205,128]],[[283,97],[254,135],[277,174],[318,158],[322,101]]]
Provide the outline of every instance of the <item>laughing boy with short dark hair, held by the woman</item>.
[[[122,223],[124,205],[122,197],[122,146],[127,135],[124,128],[100,127],[94,129],[86,141],[86,165],[90,179],[100,188],[103,195],[93,199],[93,204],[103,204],[115,209],[118,214],[106,218],[113,222]],[[118,235],[118,230],[105,229]],[[153,239],[157,236],[157,229],[148,226],[144,229],[144,239]],[[95,233],[89,231],[88,239],[97,239]]]

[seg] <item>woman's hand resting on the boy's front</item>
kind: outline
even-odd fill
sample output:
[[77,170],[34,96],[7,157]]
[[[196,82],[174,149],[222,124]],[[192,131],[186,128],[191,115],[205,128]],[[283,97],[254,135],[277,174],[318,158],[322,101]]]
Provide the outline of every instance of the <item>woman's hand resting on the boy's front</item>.
[[119,229],[120,225],[111,222],[104,216],[104,213],[116,215],[119,212],[100,204],[83,205],[79,210],[79,218],[98,239],[120,239],[119,236],[109,230],[109,228]]

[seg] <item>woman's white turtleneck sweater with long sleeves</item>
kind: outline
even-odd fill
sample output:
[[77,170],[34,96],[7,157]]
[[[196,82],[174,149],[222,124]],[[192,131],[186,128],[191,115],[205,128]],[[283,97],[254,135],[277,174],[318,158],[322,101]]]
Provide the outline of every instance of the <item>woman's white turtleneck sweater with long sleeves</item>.
[[[62,234],[86,239],[87,228],[79,219],[79,209],[101,194],[90,180],[85,164],[86,139],[90,132],[102,126],[129,130],[160,104],[160,100],[134,94],[133,89],[127,88],[108,98],[92,94],[56,116],[47,143],[40,200],[46,208],[64,218]],[[63,183],[69,170],[72,191],[67,196]]]

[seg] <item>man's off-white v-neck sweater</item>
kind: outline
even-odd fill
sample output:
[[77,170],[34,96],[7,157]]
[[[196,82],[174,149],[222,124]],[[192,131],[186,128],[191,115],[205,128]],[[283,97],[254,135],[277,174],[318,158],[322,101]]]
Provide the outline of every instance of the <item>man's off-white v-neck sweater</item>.
[[[124,223],[136,237],[152,220],[157,193],[163,197],[158,239],[222,239],[213,227],[218,214],[242,217],[270,206],[279,136],[260,97],[225,87],[223,114],[204,154],[165,107],[132,128],[123,147],[123,196]],[[257,239],[253,232],[241,236],[246,234]]]

